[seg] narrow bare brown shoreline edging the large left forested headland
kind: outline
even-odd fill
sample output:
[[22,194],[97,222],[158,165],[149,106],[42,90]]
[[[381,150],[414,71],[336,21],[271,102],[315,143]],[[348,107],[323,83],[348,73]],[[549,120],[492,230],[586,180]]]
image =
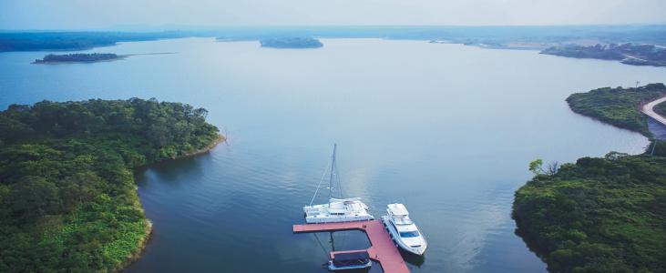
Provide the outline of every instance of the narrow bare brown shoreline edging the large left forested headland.
[[[225,141],[227,141],[227,137],[223,136],[222,134],[218,134],[218,137],[207,147],[203,147],[203,148],[200,148],[198,150],[192,151],[192,152],[188,153],[187,155],[183,155],[183,156],[179,156],[179,157],[172,157],[169,160],[163,160],[163,161],[160,161],[160,162],[170,161],[170,160],[177,160],[177,159],[180,159],[180,158],[187,158],[187,157],[196,157],[196,156],[199,156],[201,154],[205,154],[205,153],[210,152],[210,150],[212,150],[214,147],[217,147],[220,143],[225,142]],[[144,165],[144,166],[135,167],[134,170],[133,170],[133,171],[135,171],[135,183],[137,182],[136,181],[136,171],[137,170],[144,169],[146,167],[150,167],[150,166],[152,166],[154,164],[158,164],[158,163],[159,162],[154,162],[154,163],[147,164],[147,165]],[[153,222],[148,217],[145,216],[145,210],[143,208],[143,205],[141,204],[141,198],[138,197],[138,187],[135,187],[135,193],[137,194],[137,201],[138,201],[137,204],[135,204],[135,205],[139,209],[141,209],[141,212],[144,213],[144,221],[146,222],[146,227],[145,227],[145,230],[144,230],[144,237],[139,239],[137,250],[134,253],[132,253],[131,255],[129,255],[127,257],[127,259],[118,266],[118,269],[116,270],[116,272],[124,271],[126,268],[128,268],[132,264],[136,263],[141,257],[143,257],[143,254],[146,252],[146,248],[148,248],[148,244],[149,244],[150,240],[152,239],[152,235],[153,235],[153,230],[154,230]]]

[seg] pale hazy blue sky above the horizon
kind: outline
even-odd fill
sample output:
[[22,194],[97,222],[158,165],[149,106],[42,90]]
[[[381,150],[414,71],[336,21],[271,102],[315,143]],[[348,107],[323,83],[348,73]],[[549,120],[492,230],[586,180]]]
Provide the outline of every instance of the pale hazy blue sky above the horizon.
[[0,0],[0,29],[666,23],[666,0]]

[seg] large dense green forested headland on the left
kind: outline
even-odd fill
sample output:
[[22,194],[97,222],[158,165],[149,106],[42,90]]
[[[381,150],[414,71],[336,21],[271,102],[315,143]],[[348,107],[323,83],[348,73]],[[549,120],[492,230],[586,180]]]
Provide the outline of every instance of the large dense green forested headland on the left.
[[132,168],[209,147],[206,114],[138,98],[0,112],[0,272],[125,265],[149,230]]

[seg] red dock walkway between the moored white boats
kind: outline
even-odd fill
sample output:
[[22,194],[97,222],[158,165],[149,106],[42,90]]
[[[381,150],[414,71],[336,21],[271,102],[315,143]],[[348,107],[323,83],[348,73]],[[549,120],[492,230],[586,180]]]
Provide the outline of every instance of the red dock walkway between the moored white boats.
[[293,233],[323,232],[339,230],[363,230],[370,239],[372,247],[368,248],[370,258],[382,265],[385,273],[409,273],[405,260],[395,248],[393,240],[380,220],[356,221],[343,223],[293,225]]

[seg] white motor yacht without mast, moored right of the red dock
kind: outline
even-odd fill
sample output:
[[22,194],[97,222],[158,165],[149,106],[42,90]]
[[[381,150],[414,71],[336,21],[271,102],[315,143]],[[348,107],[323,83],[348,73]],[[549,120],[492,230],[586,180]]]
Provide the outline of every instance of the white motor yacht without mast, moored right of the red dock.
[[388,215],[382,217],[384,226],[388,229],[391,238],[400,248],[416,255],[423,255],[428,243],[418,227],[409,218],[409,212],[403,204],[389,204],[386,206]]

